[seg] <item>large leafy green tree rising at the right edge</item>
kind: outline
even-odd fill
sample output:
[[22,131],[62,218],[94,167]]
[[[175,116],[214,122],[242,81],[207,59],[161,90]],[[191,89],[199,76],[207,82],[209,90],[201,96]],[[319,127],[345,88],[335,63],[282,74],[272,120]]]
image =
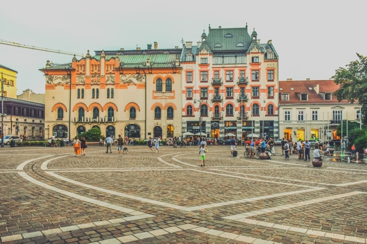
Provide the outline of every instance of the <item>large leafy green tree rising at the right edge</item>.
[[[335,70],[332,76],[339,89],[333,94],[340,102],[347,99],[349,102],[358,102],[362,106],[361,114],[367,114],[367,57],[357,53],[359,60],[352,61],[347,68]],[[361,116],[362,123],[367,123],[367,116]]]

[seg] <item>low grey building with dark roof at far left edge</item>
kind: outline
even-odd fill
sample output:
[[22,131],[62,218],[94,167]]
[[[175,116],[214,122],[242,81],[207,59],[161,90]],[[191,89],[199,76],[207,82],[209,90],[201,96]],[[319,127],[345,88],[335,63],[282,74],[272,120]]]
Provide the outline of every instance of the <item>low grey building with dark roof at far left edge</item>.
[[29,141],[44,139],[44,104],[5,97],[4,114],[5,136],[25,134]]

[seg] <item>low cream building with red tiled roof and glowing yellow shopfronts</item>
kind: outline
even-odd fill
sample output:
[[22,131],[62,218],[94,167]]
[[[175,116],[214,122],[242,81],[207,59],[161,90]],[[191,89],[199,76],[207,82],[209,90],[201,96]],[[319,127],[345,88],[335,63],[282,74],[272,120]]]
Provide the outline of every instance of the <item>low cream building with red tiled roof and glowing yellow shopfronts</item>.
[[342,120],[359,121],[360,108],[332,95],[339,88],[333,80],[279,82],[280,137],[296,139],[340,139],[336,127]]

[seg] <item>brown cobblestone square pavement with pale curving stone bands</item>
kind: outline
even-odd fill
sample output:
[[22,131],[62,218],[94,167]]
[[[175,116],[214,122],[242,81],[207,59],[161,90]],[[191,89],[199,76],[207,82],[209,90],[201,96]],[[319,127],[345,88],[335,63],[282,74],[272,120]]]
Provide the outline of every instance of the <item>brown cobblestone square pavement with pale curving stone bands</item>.
[[127,147],[1,149],[1,242],[366,243],[365,164]]

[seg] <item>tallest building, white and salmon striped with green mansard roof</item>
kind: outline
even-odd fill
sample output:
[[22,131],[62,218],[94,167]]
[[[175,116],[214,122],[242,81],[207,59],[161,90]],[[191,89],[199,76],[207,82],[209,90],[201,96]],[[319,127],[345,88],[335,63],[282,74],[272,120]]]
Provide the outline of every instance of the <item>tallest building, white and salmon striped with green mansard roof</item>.
[[182,133],[278,138],[278,61],[272,41],[260,43],[247,25],[209,26],[197,45],[186,42],[181,53]]

